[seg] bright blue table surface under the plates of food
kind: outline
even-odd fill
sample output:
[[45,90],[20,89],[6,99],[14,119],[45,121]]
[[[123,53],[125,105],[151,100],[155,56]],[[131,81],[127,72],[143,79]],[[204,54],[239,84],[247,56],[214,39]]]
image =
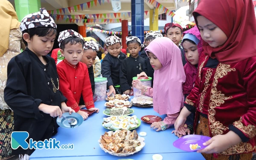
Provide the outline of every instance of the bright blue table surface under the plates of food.
[[[186,153],[172,145],[172,143],[178,139],[174,134],[172,134],[172,130],[174,130],[174,128],[156,132],[145,122],[141,122],[140,127],[136,129],[138,133],[142,131],[147,133],[147,136],[144,137],[145,146],[140,152],[128,157],[116,157],[105,153],[105,151],[99,147],[98,142],[100,136],[104,134],[105,131],[109,131],[102,126],[103,118],[108,117],[102,113],[106,109],[104,104],[105,101],[96,102],[95,106],[100,109],[100,112],[93,113],[78,128],[58,128],[58,133],[52,138],[60,141],[60,145],[74,144],[73,149],[37,149],[30,156],[30,159],[43,160],[51,158],[52,160],[58,160],[61,158],[63,160],[64,157],[67,157],[66,159],[74,158],[74,160],[99,160],[103,158],[104,160],[118,160],[123,158],[148,160],[148,157],[151,157],[150,159],[152,159],[153,154],[161,154],[163,157],[167,157],[166,159],[169,159],[168,157],[170,156],[176,157],[176,160],[191,160],[193,158],[196,160],[204,160],[204,157],[201,154],[194,152]],[[153,110],[153,107],[142,108],[132,106],[131,108],[134,109],[134,113],[132,115],[136,115],[139,119],[145,115],[159,116],[159,114]],[[160,117],[162,119],[165,118],[164,115]]]

